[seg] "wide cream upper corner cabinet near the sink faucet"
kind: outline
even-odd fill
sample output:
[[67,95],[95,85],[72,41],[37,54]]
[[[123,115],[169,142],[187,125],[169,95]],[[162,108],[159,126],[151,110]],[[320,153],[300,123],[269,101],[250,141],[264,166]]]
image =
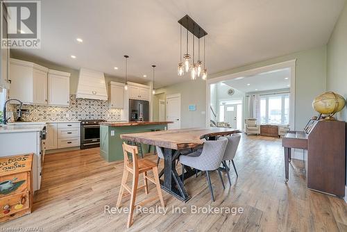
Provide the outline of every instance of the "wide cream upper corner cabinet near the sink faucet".
[[10,58],[10,98],[26,104],[46,105],[47,73],[46,67]]

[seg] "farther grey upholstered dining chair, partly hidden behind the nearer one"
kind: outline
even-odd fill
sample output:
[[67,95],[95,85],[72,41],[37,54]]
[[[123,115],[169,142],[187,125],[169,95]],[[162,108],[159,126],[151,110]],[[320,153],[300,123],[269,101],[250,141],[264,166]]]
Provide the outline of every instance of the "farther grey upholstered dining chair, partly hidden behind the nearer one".
[[231,185],[230,174],[229,174],[230,168],[226,164],[226,161],[229,160],[229,165],[230,165],[230,161],[232,162],[232,166],[234,166],[236,176],[239,176],[239,174],[237,174],[237,171],[236,171],[234,158],[236,155],[237,147],[239,147],[239,140],[241,139],[241,135],[233,134],[232,136],[226,136],[224,138],[228,139],[228,145],[226,146],[226,151],[223,156],[222,165],[226,169],[226,175],[228,176],[228,181]]

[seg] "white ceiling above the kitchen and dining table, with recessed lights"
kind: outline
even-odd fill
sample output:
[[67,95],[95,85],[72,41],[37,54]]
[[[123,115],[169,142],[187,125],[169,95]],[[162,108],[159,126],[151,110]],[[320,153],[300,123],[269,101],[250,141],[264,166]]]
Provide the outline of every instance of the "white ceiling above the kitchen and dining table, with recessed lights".
[[177,21],[186,14],[209,33],[212,74],[326,44],[344,0],[42,0],[41,5],[41,49],[20,52],[121,77],[127,54],[130,80],[150,81],[155,64],[158,88],[189,79],[176,75]]

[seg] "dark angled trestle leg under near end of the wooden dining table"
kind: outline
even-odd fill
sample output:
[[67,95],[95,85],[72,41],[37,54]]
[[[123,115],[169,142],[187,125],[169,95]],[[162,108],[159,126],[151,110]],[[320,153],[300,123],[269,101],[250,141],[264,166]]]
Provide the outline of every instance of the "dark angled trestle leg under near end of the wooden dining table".
[[160,181],[160,184],[163,190],[181,201],[187,202],[190,196],[176,171],[176,159],[179,155],[179,151],[164,148],[164,181]]

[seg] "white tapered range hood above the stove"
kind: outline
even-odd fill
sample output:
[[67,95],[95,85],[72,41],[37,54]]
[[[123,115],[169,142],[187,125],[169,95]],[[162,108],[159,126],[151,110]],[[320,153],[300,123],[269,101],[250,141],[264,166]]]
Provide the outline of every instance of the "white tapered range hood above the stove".
[[76,98],[107,101],[108,94],[103,72],[80,69]]

